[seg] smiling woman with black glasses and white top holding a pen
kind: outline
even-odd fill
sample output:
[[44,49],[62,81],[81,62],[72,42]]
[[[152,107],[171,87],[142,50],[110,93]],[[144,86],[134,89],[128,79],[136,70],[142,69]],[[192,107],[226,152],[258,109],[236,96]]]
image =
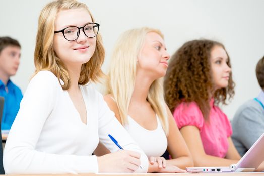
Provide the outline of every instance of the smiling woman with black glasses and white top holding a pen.
[[[98,31],[83,3],[54,1],[41,11],[36,72],[7,139],[6,173],[147,172],[148,158],[90,85],[102,75]],[[92,155],[99,141],[113,153]]]

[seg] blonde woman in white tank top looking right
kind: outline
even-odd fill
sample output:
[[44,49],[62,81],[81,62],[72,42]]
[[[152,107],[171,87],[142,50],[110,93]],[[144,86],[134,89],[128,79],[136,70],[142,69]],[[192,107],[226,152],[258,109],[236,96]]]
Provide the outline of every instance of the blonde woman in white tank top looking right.
[[[163,98],[169,54],[159,30],[132,29],[117,40],[105,101],[149,157],[148,172],[184,172],[190,152]],[[162,154],[169,151],[172,159]]]

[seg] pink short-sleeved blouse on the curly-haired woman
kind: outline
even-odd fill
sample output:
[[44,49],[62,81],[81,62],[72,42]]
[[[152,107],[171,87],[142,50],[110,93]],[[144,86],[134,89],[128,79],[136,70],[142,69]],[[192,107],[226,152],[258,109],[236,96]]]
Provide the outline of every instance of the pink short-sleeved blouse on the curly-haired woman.
[[206,154],[224,158],[228,150],[227,138],[232,135],[232,128],[227,116],[210,101],[210,122],[205,122],[199,106],[195,102],[182,102],[174,113],[174,119],[181,129],[184,126],[195,126],[200,130]]

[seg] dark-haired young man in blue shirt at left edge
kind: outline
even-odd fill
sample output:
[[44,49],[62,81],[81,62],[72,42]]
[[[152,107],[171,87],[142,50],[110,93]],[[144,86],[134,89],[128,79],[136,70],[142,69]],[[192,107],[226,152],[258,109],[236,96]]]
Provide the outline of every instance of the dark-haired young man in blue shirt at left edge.
[[14,76],[20,63],[19,42],[10,37],[0,37],[0,96],[5,98],[1,129],[9,130],[17,116],[21,90],[10,77]]

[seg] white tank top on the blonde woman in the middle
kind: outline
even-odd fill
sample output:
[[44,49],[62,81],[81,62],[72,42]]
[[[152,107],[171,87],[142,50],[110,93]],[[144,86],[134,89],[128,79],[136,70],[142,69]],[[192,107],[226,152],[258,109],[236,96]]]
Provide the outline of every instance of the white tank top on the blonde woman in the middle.
[[124,128],[138,143],[138,145],[145,152],[145,154],[148,157],[160,157],[167,149],[168,142],[158,116],[156,115],[158,125],[155,130],[147,130],[140,126],[130,116],[128,116],[127,118],[128,124],[125,125]]

